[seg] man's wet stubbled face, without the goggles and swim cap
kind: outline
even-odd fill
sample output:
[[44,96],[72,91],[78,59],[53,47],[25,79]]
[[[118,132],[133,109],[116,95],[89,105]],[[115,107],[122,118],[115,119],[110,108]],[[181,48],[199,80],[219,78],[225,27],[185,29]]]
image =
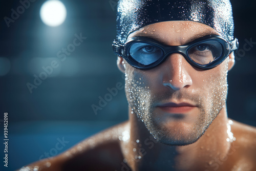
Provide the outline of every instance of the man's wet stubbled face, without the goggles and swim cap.
[[[165,45],[184,45],[215,29],[190,21],[161,22],[129,35],[146,36]],[[159,141],[170,145],[196,142],[222,110],[227,97],[227,58],[210,70],[191,66],[178,53],[151,70],[124,61],[125,93],[132,113]]]

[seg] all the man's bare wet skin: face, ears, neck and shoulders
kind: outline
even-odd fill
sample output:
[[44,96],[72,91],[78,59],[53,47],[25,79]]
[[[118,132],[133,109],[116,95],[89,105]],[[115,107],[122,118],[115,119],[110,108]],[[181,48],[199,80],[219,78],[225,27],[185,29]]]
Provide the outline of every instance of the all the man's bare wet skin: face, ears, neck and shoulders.
[[[145,26],[129,37],[147,36],[176,46],[209,34],[219,35],[204,24],[173,21]],[[234,65],[233,53],[210,70],[191,66],[177,53],[151,70],[135,69],[121,57],[117,65],[126,74],[129,121],[28,168],[256,170],[255,127],[227,117],[227,73]]]

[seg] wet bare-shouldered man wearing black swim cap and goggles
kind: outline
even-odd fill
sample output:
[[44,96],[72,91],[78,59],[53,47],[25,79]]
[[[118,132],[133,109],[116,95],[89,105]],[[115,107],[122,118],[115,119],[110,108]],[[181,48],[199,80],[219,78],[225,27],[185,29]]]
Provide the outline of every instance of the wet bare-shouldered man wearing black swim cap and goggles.
[[230,2],[118,4],[129,121],[20,170],[256,170],[256,130],[227,117]]

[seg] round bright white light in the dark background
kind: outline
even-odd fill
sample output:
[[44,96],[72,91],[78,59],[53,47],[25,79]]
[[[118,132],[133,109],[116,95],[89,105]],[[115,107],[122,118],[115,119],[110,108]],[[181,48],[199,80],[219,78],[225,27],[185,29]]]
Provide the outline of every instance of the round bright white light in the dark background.
[[60,1],[50,0],[42,4],[40,17],[42,22],[51,27],[61,25],[67,16],[67,10]]

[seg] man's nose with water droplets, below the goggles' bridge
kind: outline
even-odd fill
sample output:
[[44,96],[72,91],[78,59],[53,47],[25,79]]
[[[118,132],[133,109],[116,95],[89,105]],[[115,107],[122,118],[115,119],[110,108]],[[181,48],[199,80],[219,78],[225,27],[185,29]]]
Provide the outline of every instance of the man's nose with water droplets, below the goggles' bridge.
[[191,68],[183,55],[174,53],[168,56],[164,64],[163,85],[174,91],[192,85],[192,79],[188,73]]

